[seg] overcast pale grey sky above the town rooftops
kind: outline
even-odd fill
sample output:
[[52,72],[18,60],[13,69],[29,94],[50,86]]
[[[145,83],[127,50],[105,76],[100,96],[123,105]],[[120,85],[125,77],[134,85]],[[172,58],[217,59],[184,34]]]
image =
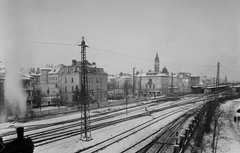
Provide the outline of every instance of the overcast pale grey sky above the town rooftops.
[[70,65],[84,36],[110,74],[153,70],[158,52],[161,69],[216,76],[220,62],[240,80],[239,0],[1,0],[0,27],[1,67]]

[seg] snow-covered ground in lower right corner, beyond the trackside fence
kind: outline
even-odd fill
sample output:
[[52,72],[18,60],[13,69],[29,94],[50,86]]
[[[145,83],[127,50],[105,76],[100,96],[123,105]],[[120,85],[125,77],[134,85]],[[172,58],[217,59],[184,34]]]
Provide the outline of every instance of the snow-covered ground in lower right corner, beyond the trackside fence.
[[[220,136],[217,145],[217,153],[240,152],[240,122],[234,122],[234,116],[239,115],[236,110],[240,108],[240,99],[227,101],[221,106],[225,111],[220,121],[222,122]],[[211,144],[212,134],[205,136],[205,142]],[[205,153],[212,152],[211,146],[207,146]]]

